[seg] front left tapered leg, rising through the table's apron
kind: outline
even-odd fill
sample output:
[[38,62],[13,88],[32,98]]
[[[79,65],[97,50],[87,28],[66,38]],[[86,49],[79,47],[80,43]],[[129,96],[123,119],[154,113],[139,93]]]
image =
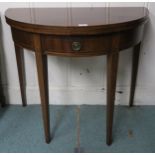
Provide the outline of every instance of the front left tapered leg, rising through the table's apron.
[[50,142],[50,122],[49,122],[49,96],[48,96],[48,68],[47,55],[42,54],[40,36],[34,35],[35,56],[38,71],[38,81],[40,88],[41,106],[44,122],[45,140]]

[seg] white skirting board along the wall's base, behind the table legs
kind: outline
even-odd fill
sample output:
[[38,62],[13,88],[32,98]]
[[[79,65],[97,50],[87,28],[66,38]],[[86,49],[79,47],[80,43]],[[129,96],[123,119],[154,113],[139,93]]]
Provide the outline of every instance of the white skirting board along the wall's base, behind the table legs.
[[[116,105],[128,105],[130,87],[116,88]],[[21,104],[19,87],[4,86],[6,102],[8,104]],[[135,105],[155,105],[155,88],[137,87]],[[28,104],[39,104],[40,96],[38,87],[27,87]],[[49,88],[49,103],[56,105],[106,105],[106,90],[103,88],[57,87]]]

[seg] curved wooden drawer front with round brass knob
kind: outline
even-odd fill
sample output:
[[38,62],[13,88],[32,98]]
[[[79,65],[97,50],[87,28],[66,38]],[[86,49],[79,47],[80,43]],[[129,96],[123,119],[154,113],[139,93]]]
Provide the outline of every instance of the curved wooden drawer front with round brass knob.
[[42,36],[45,53],[55,55],[101,55],[110,48],[110,37],[103,36]]

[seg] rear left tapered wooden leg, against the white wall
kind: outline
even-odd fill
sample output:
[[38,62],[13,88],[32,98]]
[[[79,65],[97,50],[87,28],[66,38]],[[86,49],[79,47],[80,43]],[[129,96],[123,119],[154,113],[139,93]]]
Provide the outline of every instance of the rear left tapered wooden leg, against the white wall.
[[15,53],[16,53],[16,60],[17,60],[17,68],[18,68],[18,75],[19,75],[19,83],[20,83],[20,90],[21,90],[21,97],[23,106],[27,105],[26,100],[26,79],[25,79],[25,66],[24,66],[24,51],[23,48],[15,44]]

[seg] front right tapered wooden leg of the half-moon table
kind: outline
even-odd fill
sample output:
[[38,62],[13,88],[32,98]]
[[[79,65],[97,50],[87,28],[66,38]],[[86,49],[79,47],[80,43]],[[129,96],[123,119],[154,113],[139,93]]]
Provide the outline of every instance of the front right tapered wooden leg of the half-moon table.
[[107,145],[112,143],[112,125],[119,53],[107,55]]

